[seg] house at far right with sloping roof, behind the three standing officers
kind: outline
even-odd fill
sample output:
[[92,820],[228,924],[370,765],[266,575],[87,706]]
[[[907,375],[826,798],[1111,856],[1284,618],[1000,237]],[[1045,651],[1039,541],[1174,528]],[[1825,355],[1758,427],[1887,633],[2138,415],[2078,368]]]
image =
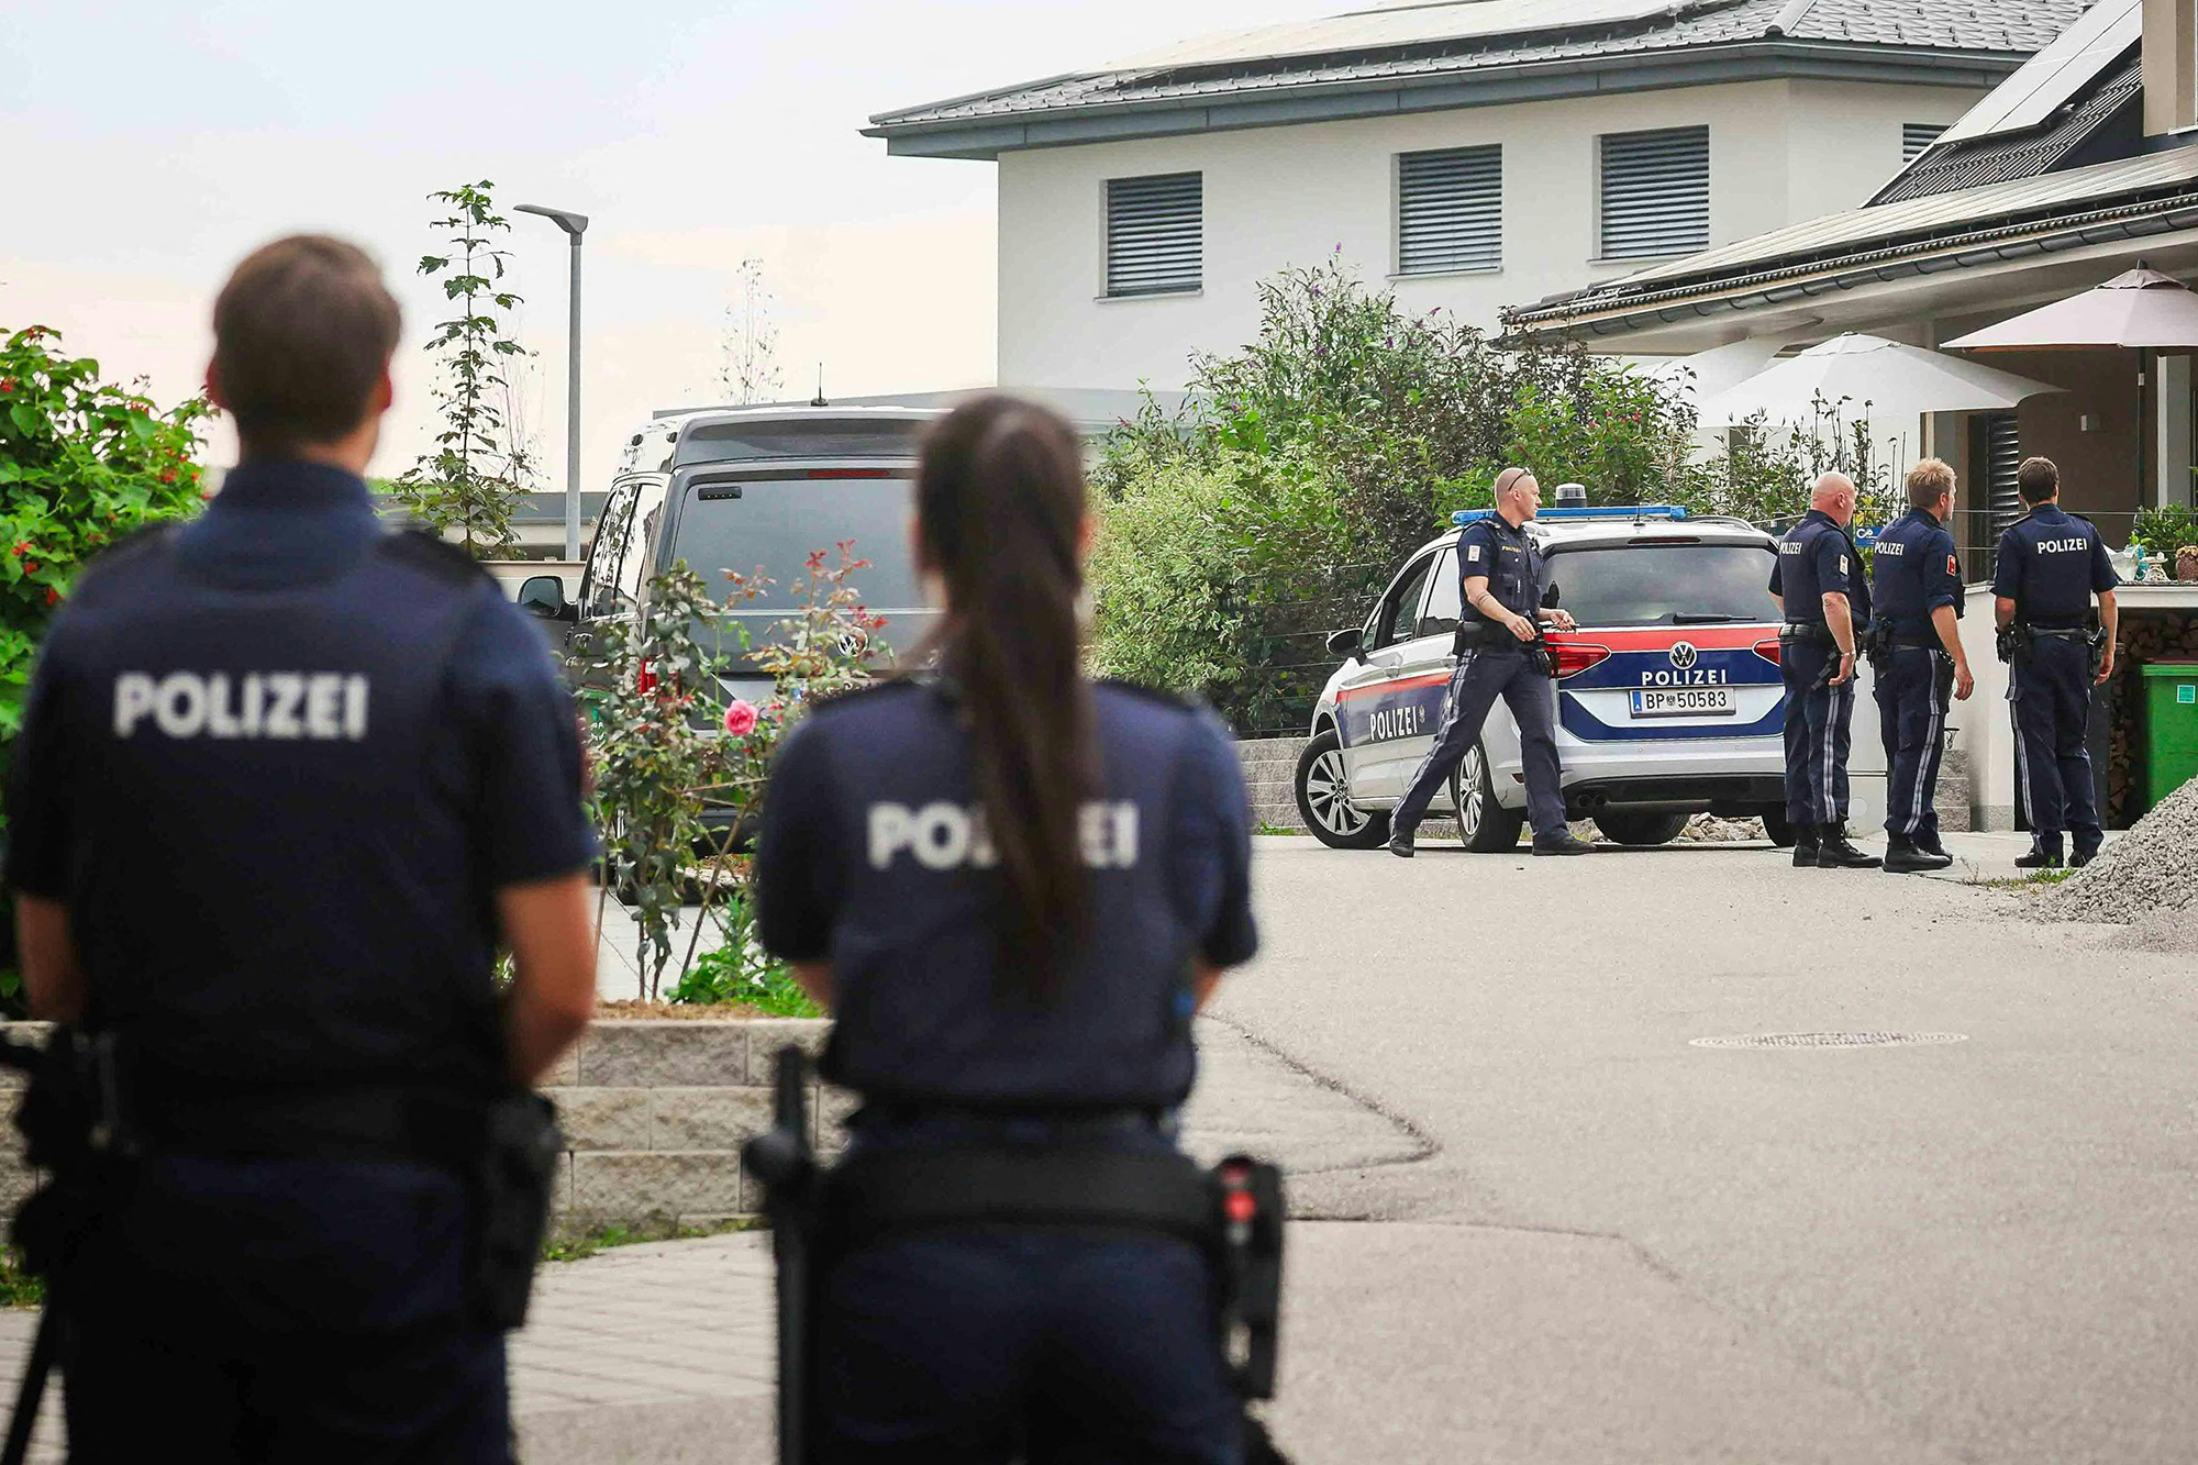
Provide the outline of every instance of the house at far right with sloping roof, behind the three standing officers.
[[[1567,297],[1521,297],[1510,339],[1684,354],[1840,332],[1936,348],[2136,266],[2198,282],[2194,0],[2099,0],[1866,205],[1664,262]],[[1963,640],[1976,695],[1950,715],[1978,829],[2020,825],[2007,673],[1991,651],[1991,550],[2022,515],[2016,466],[2062,466],[2062,502],[2123,546],[2145,508],[2191,504],[2198,372],[2189,350],[1991,352],[2060,392],[2018,411],[1932,414],[1923,447],[1963,471]],[[2132,662],[2198,645],[2198,585],[2119,592],[2123,671],[2095,697],[2108,818],[2143,812]],[[1860,737],[1857,728],[1857,737]],[[2156,792],[2156,790],[2154,790]]]

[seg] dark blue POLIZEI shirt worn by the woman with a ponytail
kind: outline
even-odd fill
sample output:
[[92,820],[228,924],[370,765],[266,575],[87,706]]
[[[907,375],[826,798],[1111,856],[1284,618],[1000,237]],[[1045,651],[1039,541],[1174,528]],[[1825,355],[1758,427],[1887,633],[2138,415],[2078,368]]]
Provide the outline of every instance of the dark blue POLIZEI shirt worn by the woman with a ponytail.
[[1088,935],[1051,1005],[1000,994],[1000,878],[952,693],[890,682],[820,706],[778,752],[756,847],[763,946],[831,961],[824,1071],[868,1100],[1174,1106],[1191,1091],[1194,961],[1257,950],[1251,814],[1202,713],[1092,689]]

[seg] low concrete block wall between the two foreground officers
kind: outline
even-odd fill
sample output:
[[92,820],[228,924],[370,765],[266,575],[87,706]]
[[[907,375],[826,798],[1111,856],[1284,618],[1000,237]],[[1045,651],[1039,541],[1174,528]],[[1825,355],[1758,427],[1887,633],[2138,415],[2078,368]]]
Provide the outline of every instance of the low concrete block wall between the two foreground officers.
[[[763,1197],[741,1170],[741,1146],[771,1126],[771,1060],[787,1043],[815,1056],[826,1027],[820,1018],[589,1027],[543,1084],[569,1146],[554,1225],[670,1232],[756,1214]],[[848,1095],[811,1084],[820,1150],[844,1144],[848,1109]]]

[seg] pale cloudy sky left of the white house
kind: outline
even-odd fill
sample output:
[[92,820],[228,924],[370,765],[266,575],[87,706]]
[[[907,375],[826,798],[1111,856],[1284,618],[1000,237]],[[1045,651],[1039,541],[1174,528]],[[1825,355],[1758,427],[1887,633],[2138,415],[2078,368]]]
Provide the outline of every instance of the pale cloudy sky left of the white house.
[[[226,271],[292,231],[367,246],[404,304],[374,473],[429,451],[413,275],[433,189],[591,218],[582,486],[653,409],[725,400],[725,310],[758,260],[787,396],[993,381],[993,165],[888,158],[875,112],[1101,66],[1339,0],[68,0],[0,26],[0,330],[44,323],[158,400],[191,394]],[[565,462],[565,238],[510,216],[519,407]],[[209,462],[235,444],[215,429]]]

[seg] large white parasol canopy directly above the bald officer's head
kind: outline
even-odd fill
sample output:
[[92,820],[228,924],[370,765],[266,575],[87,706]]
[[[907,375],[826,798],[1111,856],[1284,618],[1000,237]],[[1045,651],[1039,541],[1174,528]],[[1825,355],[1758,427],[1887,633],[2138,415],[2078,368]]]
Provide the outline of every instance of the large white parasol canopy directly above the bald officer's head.
[[1780,361],[1761,376],[1719,392],[1701,405],[1703,427],[1741,422],[1758,411],[1772,422],[1800,422],[1818,398],[1842,398],[1870,416],[1901,418],[1925,411],[2007,411],[2040,392],[2060,392],[2042,381],[1998,367],[1941,356],[1921,345],[1884,337],[1844,334]]

